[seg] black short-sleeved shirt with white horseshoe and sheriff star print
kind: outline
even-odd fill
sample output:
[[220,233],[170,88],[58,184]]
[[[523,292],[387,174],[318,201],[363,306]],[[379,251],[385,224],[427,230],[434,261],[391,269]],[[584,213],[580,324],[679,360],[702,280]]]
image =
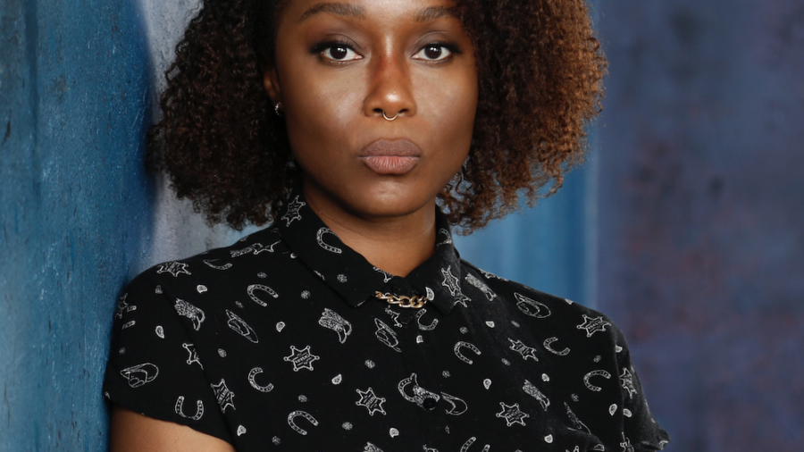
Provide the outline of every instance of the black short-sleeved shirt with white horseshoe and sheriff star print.
[[[249,451],[664,447],[603,314],[434,255],[405,278],[345,246],[300,191],[271,228],[131,281],[105,397]],[[423,295],[392,306],[376,292]]]

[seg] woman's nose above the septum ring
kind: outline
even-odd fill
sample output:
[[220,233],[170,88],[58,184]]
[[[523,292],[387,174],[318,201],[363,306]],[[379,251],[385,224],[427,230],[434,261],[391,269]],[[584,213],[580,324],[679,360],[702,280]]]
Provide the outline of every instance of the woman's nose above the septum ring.
[[385,54],[370,66],[364,114],[370,117],[410,117],[416,113],[410,68],[404,56]]

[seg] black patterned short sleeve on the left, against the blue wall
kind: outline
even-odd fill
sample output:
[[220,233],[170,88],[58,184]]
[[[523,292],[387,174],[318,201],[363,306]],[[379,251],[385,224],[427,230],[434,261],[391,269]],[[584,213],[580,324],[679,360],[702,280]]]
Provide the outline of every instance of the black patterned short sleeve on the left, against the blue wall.
[[104,396],[131,411],[231,443],[212,383],[188,334],[204,313],[196,308],[180,317],[178,311],[187,309],[180,303],[148,272],[131,281],[114,312]]

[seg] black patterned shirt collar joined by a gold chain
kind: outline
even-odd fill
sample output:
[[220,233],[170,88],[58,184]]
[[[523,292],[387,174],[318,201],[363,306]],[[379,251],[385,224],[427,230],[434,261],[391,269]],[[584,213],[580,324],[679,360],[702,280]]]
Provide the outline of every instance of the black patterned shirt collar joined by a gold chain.
[[347,247],[307,205],[300,188],[291,190],[277,217],[281,236],[291,251],[331,289],[354,307],[374,300],[376,292],[427,295],[427,305],[449,314],[464,306],[461,267],[452,241],[447,216],[436,207],[436,249],[433,255],[406,277],[393,276],[374,267]]

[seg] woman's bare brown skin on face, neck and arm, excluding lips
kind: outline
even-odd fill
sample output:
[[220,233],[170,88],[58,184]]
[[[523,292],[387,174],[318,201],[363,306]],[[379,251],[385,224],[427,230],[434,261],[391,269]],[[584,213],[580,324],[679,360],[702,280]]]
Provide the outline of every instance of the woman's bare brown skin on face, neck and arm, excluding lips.
[[[314,8],[323,1],[293,0],[283,10],[264,86],[281,102],[308,205],[348,247],[404,276],[432,255],[436,197],[469,152],[477,107],[472,42],[443,13],[453,6],[447,0]],[[340,42],[322,47],[333,40]],[[380,139],[412,143],[413,168],[388,174],[366,164],[366,146]],[[110,450],[234,448],[115,406]]]

